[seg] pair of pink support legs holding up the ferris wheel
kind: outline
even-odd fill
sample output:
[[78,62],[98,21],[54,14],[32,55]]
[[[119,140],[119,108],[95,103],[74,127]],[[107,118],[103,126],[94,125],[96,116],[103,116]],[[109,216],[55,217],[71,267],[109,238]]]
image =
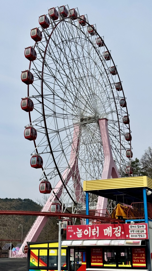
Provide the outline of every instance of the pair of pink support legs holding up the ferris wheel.
[[[101,139],[102,139],[103,151],[104,151],[104,159],[105,159],[104,160],[104,167],[103,167],[103,174],[102,174],[101,179],[110,179],[111,177],[112,178],[120,178],[119,172],[117,170],[117,167],[115,165],[113,155],[112,155],[110,138],[109,138],[109,133],[108,133],[108,120],[107,120],[107,118],[99,119],[99,126],[100,126]],[[77,164],[77,151],[78,151],[78,146],[79,146],[79,141],[80,141],[79,140],[79,133],[80,133],[79,127],[75,125],[74,134],[73,134],[71,157],[70,157],[70,166],[71,166],[71,169],[72,169],[72,167],[77,168],[77,175],[78,176],[80,176],[79,171],[78,171],[78,164]],[[74,150],[77,150],[77,151],[75,152]],[[70,179],[70,177],[72,176],[72,172],[70,172],[70,171],[66,170],[66,172],[64,172],[64,174],[63,174],[64,178],[66,175],[67,182],[68,182],[68,179]],[[78,179],[78,183],[77,183],[78,186],[80,185],[79,178],[77,178]],[[57,193],[57,195],[60,197],[59,194],[62,193],[61,180],[57,183],[56,187],[57,188],[54,189],[54,192]],[[43,207],[43,209],[44,209],[43,211],[48,211],[48,209],[51,205],[51,201],[54,199],[55,199],[55,196],[50,196],[47,203]],[[107,208],[107,201],[108,201],[107,198],[99,196],[96,209],[100,209],[100,210],[106,209]],[[48,220],[48,217],[40,217],[40,216],[37,217],[37,219],[35,220],[34,224],[31,227],[31,230],[27,234],[22,246],[24,244],[26,244],[26,242],[28,242],[28,241],[31,242],[31,241],[37,240],[37,238],[38,238],[39,234],[41,233],[43,227],[45,226],[47,220]]]

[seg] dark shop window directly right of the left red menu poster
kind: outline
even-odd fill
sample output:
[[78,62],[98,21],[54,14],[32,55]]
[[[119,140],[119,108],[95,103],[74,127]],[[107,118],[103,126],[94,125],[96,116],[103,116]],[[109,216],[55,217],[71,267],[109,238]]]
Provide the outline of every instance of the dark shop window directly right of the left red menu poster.
[[104,249],[104,266],[116,267],[115,249]]

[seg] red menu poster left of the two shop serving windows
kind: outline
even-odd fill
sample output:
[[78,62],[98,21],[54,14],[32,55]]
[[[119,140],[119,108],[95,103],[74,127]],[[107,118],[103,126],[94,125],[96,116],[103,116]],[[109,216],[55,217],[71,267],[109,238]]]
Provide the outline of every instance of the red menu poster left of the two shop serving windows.
[[91,248],[91,266],[103,266],[102,248]]

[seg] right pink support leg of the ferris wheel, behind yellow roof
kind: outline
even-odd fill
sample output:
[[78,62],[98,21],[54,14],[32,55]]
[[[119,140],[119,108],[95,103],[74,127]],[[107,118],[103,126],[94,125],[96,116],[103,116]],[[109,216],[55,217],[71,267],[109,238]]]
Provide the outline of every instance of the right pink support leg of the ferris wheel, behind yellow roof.
[[[110,138],[108,133],[108,120],[106,118],[99,119],[100,133],[101,139],[103,143],[103,151],[104,151],[104,167],[103,174],[101,179],[110,179],[112,178],[120,178],[119,172],[115,165],[111,145]],[[98,196],[97,208],[96,209],[106,209],[107,208],[107,198]]]

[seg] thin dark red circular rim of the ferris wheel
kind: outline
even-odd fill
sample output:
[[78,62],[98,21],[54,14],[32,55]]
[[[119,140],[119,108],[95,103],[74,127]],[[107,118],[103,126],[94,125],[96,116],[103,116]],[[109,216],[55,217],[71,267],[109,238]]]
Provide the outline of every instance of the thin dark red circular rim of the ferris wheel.
[[[75,18],[81,20],[80,17],[75,17]],[[49,135],[48,135],[47,123],[46,123],[46,118],[45,118],[45,110],[44,110],[44,96],[43,96],[43,75],[44,75],[43,72],[44,72],[44,62],[45,62],[45,56],[46,56],[46,52],[47,52],[49,40],[50,40],[50,38],[51,38],[51,36],[52,36],[52,34],[53,34],[55,28],[58,26],[58,24],[60,24],[62,21],[66,21],[67,19],[71,19],[71,17],[67,17],[67,18],[64,18],[64,19],[60,20],[60,21],[54,26],[54,28],[52,29],[52,31],[51,31],[51,33],[50,33],[50,35],[49,35],[49,38],[48,38],[48,40],[47,40],[47,44],[46,44],[46,46],[45,46],[45,52],[44,52],[43,63],[42,63],[41,98],[42,98],[42,111],[43,111],[43,117],[44,117],[44,125],[45,125],[45,131],[46,131],[46,136],[47,136],[47,140],[48,140],[49,149],[50,149],[50,152],[51,152],[51,155],[52,155],[52,158],[53,158],[55,167],[56,167],[56,169],[57,169],[58,175],[59,175],[59,177],[60,177],[60,179],[61,179],[61,181],[62,181],[62,184],[63,184],[64,188],[66,189],[68,195],[69,195],[70,198],[72,199],[72,201],[76,204],[76,202],[75,202],[74,199],[71,197],[71,195],[70,195],[68,189],[67,189],[66,186],[65,186],[64,180],[63,180],[63,178],[62,178],[62,175],[61,175],[61,173],[60,173],[60,170],[58,169],[57,163],[56,163],[55,158],[54,158],[54,154],[53,154],[53,151],[52,151],[52,147],[51,147],[51,143],[50,143]],[[86,23],[87,23],[88,26],[91,27],[91,25],[90,25],[87,21],[86,21]],[[74,26],[77,27],[76,25],[74,25]],[[82,31],[82,30],[81,30],[81,31]],[[95,31],[95,33],[98,35],[98,37],[100,37],[100,35],[98,34],[98,32],[96,31],[95,28],[94,28],[94,31]],[[88,37],[87,37],[87,38],[88,38]],[[102,39],[102,37],[100,37],[100,38],[101,38],[102,42],[104,43],[104,40]],[[88,39],[89,39],[89,38],[88,38]],[[36,44],[37,44],[37,42],[35,42],[34,48],[35,48]],[[94,44],[92,44],[92,45],[94,46]],[[107,49],[107,51],[108,51],[108,53],[109,53],[109,55],[110,55],[110,57],[111,57],[111,53],[110,53],[110,51],[108,50],[108,48],[107,48],[107,46],[105,45],[105,43],[104,43],[104,46],[105,46],[105,48]],[[95,46],[94,46],[94,48],[95,48]],[[96,48],[95,48],[95,49],[96,49]],[[101,59],[100,59],[100,60],[101,60]],[[114,61],[113,61],[113,58],[112,58],[112,57],[111,57],[111,60],[112,60],[112,62],[113,62],[113,64],[114,64]],[[102,60],[101,60],[101,61],[102,61]],[[32,61],[30,61],[29,69],[30,69],[30,67],[31,67],[31,62],[32,62]],[[115,64],[114,64],[114,67],[115,67],[115,69],[116,69],[116,71],[117,71],[117,67],[115,66]],[[118,72],[117,72],[117,75],[118,75],[118,79],[120,80],[120,77],[119,77]],[[108,80],[110,80],[110,79],[108,78]],[[121,84],[121,81],[120,81],[120,84]],[[110,85],[111,85],[111,83],[110,83]],[[123,96],[124,96],[124,91],[123,91],[122,84],[121,84],[121,88],[122,88],[122,92],[123,92]],[[112,89],[112,93],[113,93],[113,89]],[[29,85],[28,85],[28,96],[29,96]],[[114,98],[114,102],[115,102],[114,93],[113,93],[113,98]],[[125,96],[124,96],[124,100],[125,100]],[[116,111],[117,111],[117,105],[116,105],[116,103],[115,103],[115,107],[116,107]],[[126,112],[126,113],[127,113],[127,117],[129,117],[129,116],[128,116],[127,104],[126,104],[126,111],[127,111],[127,112]],[[118,118],[118,112],[117,112],[117,118]],[[32,123],[31,123],[31,115],[30,115],[30,112],[29,112],[29,121],[30,121],[30,125],[32,125]],[[118,119],[118,125],[119,125],[119,119]],[[127,128],[129,129],[129,134],[130,134],[130,124],[129,124],[129,127],[127,127]],[[119,125],[119,134],[120,134],[120,125]],[[121,135],[120,135],[120,144],[121,144]],[[34,140],[34,145],[35,145],[35,150],[37,151],[35,140]],[[131,141],[130,141],[130,151],[131,151]],[[121,152],[121,148],[120,148],[120,152]],[[38,151],[37,151],[37,153],[38,153]],[[131,164],[131,158],[130,158],[130,164]],[[42,169],[42,170],[43,170],[43,169]],[[45,175],[44,170],[43,170],[43,173],[44,173],[44,175]],[[129,173],[129,175],[130,175],[130,173]],[[47,179],[47,176],[46,176],[46,175],[45,175],[45,178]]]

